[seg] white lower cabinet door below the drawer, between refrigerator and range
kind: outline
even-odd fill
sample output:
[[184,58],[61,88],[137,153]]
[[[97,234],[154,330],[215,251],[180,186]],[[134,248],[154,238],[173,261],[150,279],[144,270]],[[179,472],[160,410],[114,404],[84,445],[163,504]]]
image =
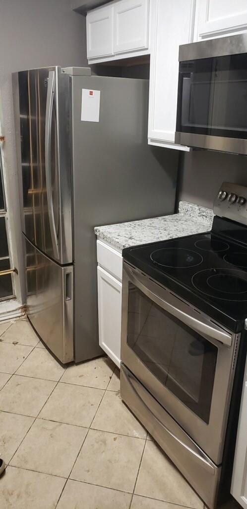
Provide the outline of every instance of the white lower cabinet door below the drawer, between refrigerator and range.
[[101,348],[120,367],[122,285],[98,266],[99,341]]

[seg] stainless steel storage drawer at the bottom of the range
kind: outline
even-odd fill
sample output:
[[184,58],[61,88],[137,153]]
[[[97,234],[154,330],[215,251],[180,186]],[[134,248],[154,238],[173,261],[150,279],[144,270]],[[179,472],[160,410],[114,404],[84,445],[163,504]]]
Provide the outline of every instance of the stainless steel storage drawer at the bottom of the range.
[[143,426],[212,509],[217,499],[221,466],[214,465],[122,362],[120,394]]

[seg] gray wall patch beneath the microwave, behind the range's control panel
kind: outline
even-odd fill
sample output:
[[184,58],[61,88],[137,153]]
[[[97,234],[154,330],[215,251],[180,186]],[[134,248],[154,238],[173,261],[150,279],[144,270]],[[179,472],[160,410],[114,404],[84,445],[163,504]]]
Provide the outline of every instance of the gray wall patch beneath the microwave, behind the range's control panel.
[[212,208],[224,181],[247,186],[247,157],[208,150],[180,154],[178,200]]

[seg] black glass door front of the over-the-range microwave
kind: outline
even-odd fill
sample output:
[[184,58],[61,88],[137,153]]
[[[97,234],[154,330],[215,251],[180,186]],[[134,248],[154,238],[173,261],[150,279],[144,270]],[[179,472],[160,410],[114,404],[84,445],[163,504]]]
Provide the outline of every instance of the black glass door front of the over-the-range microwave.
[[181,62],[178,132],[247,138],[247,54]]

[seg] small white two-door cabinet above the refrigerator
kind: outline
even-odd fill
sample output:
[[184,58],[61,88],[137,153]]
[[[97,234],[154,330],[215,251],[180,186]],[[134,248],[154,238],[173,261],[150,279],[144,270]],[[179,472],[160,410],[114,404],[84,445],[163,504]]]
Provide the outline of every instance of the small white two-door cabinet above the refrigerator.
[[149,54],[149,0],[118,0],[89,11],[86,33],[89,64]]

